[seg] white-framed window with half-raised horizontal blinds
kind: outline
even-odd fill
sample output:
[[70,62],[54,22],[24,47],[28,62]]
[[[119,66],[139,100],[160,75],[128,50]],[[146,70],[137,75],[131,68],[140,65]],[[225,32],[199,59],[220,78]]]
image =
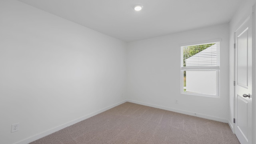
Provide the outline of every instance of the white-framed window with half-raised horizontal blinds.
[[181,46],[182,94],[219,97],[220,40]]

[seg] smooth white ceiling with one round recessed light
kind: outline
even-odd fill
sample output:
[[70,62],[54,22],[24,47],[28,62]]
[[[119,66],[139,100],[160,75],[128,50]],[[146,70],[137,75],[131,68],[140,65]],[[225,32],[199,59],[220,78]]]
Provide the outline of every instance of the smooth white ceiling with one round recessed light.
[[[125,42],[228,23],[244,0],[20,0]],[[140,12],[133,6],[142,4]]]

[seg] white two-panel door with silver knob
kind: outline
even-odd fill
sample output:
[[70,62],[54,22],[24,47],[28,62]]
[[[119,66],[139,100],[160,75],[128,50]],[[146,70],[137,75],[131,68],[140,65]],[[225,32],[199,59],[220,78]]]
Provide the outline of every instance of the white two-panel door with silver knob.
[[235,133],[241,144],[252,144],[252,16],[235,32]]

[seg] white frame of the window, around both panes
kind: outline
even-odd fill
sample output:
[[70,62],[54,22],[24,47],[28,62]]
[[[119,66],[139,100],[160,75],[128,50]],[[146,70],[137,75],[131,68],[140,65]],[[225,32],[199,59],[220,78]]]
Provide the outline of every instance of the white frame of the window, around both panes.
[[[188,95],[194,95],[194,96],[206,96],[206,97],[213,97],[213,98],[220,98],[220,46],[217,48],[218,53],[218,66],[205,66],[205,67],[183,67],[183,46],[192,46],[192,45],[201,45],[201,44],[208,44],[208,43],[214,43],[219,42],[221,43],[221,39],[216,40],[209,40],[209,41],[203,41],[203,42],[194,42],[194,43],[187,43],[187,44],[181,44],[180,50],[181,50],[181,94],[188,94]],[[201,94],[201,93],[194,93],[194,92],[184,92],[184,71],[216,71],[216,94],[210,95],[210,94]]]

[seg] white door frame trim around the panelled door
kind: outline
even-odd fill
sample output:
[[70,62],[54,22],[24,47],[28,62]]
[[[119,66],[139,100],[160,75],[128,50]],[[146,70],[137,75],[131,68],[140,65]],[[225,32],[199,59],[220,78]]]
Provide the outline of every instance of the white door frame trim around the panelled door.
[[[255,15],[255,5],[252,6],[252,12],[250,12],[251,18],[252,18],[252,143],[256,144],[256,97],[254,94],[256,94],[256,15]],[[248,17],[246,17],[247,19]],[[243,26],[244,22],[246,21],[244,19],[242,22],[239,22],[240,25],[238,25],[237,29],[234,32],[234,44],[236,42],[236,32]],[[234,48],[234,78],[233,80],[236,80],[236,49]],[[234,96],[233,96],[233,114],[234,118],[236,117],[236,86],[234,85]],[[233,133],[236,132],[236,124],[233,123],[232,128]]]

